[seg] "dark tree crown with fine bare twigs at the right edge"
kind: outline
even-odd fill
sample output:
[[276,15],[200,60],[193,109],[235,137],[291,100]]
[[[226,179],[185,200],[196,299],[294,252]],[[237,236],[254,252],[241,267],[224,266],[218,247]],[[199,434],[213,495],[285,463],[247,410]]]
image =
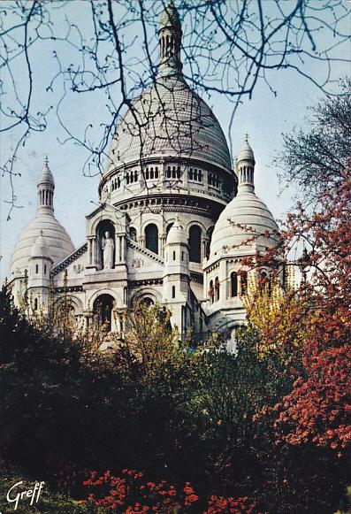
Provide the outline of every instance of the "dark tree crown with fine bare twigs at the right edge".
[[326,96],[310,108],[308,131],[283,134],[278,162],[282,178],[299,187],[308,201],[326,188],[338,186],[351,147],[351,79],[340,81],[335,96]]

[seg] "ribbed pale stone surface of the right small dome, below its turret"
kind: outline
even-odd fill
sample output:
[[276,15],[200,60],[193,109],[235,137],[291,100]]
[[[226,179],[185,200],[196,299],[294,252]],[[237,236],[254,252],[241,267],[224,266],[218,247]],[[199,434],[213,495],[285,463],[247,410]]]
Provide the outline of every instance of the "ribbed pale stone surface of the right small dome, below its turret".
[[210,257],[246,244],[272,247],[278,241],[278,225],[271,211],[252,189],[241,186],[239,193],[219,216],[212,234]]

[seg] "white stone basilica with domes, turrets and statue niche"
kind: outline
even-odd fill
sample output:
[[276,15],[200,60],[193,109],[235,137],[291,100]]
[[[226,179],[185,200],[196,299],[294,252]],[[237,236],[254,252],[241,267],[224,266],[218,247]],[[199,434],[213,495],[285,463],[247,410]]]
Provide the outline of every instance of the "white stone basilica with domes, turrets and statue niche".
[[46,159],[37,214],[19,237],[8,281],[15,301],[27,288],[34,311],[50,295],[65,296],[85,326],[103,323],[121,336],[119,313],[144,302],[171,311],[180,334],[223,330],[229,341],[245,321],[248,274],[257,272],[243,262],[277,242],[278,226],[256,196],[248,136],[232,163],[216,117],[185,81],[171,1],[158,34],[156,80],[114,134],[84,244],[75,249],[55,218]]

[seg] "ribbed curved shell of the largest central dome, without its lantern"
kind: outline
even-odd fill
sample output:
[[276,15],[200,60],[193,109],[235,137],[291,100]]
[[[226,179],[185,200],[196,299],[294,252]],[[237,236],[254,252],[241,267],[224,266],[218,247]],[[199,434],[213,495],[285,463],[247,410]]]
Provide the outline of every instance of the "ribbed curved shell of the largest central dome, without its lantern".
[[181,73],[157,78],[126,113],[111,145],[112,167],[153,156],[198,157],[231,169],[225,134]]

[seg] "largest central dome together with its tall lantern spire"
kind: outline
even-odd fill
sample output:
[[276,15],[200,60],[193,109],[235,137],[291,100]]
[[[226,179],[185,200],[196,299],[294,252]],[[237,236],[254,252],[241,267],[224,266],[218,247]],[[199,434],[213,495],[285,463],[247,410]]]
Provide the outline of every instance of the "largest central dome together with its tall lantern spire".
[[111,144],[107,173],[153,157],[200,159],[232,169],[225,134],[210,107],[187,85],[180,59],[181,24],[169,0],[160,17],[156,81],[126,112]]

